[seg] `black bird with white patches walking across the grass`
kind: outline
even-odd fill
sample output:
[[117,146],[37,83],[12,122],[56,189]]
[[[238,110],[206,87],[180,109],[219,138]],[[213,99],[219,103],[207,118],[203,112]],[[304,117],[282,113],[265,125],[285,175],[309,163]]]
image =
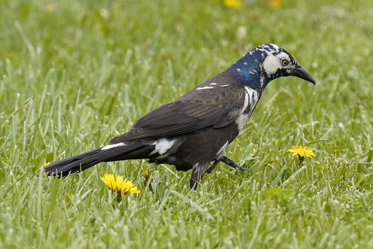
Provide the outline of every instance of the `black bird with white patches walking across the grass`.
[[196,190],[203,174],[210,174],[219,162],[247,170],[224,152],[247,124],[267,84],[286,76],[316,85],[285,49],[262,44],[174,102],[142,116],[108,144],[52,162],[44,171],[65,177],[100,162],[148,159],[174,165],[177,171],[191,170],[189,184]]

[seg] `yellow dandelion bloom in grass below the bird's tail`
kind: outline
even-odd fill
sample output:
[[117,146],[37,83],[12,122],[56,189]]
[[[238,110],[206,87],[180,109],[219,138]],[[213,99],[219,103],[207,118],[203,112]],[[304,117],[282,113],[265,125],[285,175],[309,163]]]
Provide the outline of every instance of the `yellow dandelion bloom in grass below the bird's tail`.
[[129,194],[131,192],[140,193],[140,189],[136,187],[132,181],[128,179],[124,179],[124,177],[118,175],[117,177],[114,176],[113,173],[105,174],[103,177],[100,177],[101,181],[103,181],[111,190],[115,190],[120,192],[123,190],[124,194]]

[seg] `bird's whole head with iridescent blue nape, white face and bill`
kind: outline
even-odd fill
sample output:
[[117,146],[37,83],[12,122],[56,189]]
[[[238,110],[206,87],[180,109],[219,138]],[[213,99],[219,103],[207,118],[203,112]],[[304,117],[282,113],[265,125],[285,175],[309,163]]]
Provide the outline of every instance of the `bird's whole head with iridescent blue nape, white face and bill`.
[[311,75],[285,49],[275,44],[254,48],[229,70],[252,88],[264,88],[269,81],[283,76],[295,76],[316,85]]

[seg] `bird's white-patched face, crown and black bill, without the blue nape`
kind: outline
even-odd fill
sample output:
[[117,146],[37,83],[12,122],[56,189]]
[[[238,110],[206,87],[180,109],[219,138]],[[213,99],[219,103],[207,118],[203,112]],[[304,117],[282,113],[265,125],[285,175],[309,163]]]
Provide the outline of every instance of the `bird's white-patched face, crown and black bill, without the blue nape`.
[[285,49],[275,44],[263,44],[256,49],[265,52],[263,71],[269,80],[282,76],[295,76],[316,85],[312,76]]

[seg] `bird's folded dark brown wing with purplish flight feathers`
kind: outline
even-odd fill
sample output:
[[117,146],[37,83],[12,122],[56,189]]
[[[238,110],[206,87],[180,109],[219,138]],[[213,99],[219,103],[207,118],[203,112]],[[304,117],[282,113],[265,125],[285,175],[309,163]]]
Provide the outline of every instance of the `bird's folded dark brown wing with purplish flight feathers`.
[[[241,85],[221,84],[192,89],[175,102],[165,104],[140,118],[132,130],[110,140],[119,143],[144,138],[174,137],[206,127],[231,124],[247,107]],[[199,89],[198,89],[199,88]]]

